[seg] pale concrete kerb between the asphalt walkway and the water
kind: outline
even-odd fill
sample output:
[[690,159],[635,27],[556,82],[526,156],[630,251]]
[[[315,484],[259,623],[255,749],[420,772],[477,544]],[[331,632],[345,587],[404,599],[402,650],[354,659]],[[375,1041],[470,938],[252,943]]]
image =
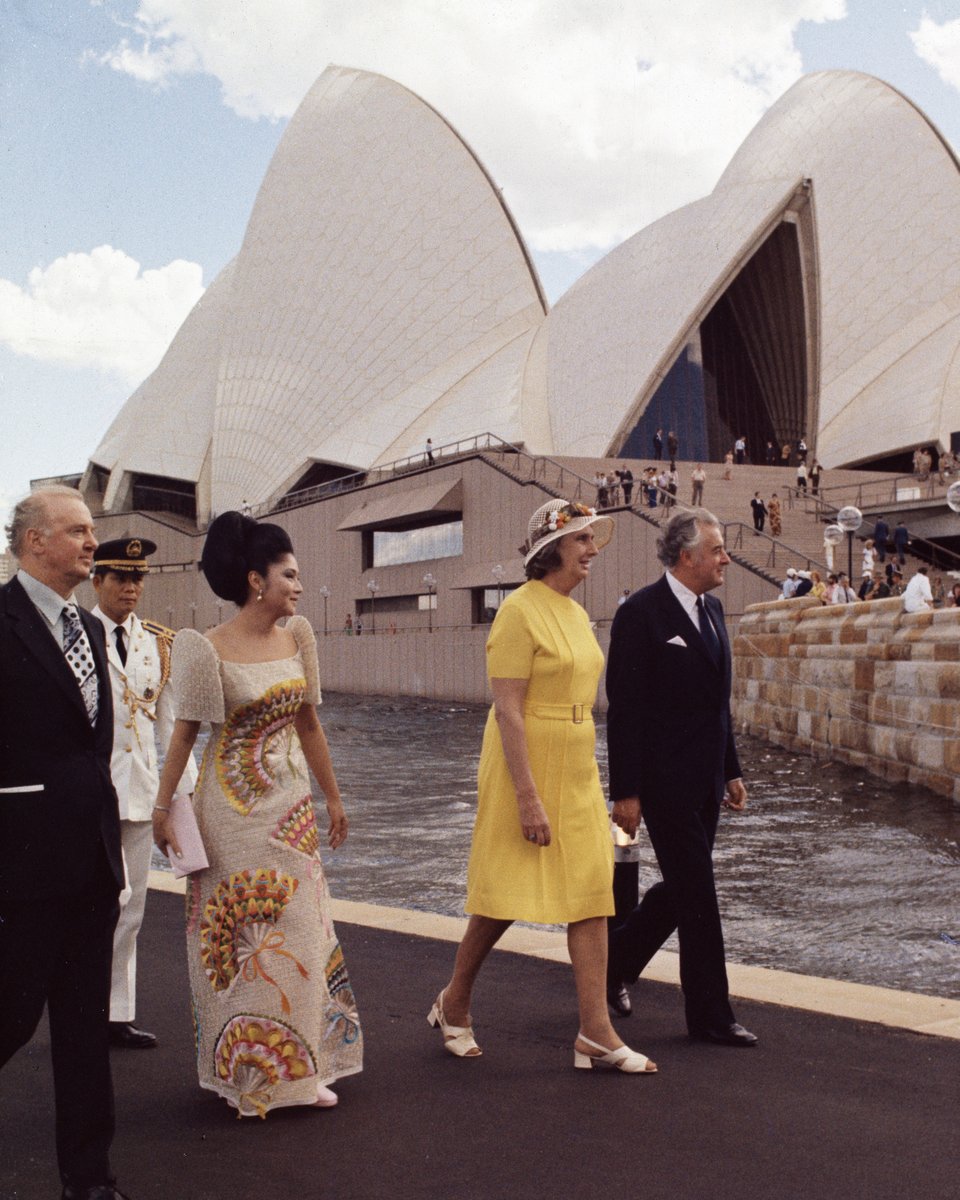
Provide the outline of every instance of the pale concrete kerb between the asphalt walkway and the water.
[[[166,871],[151,871],[150,887],[157,892],[180,895],[186,892],[185,882],[175,880]],[[334,900],[332,916],[334,920],[348,925],[430,937],[442,942],[458,942],[467,925],[462,917],[444,917],[438,913],[391,908],[355,900]],[[546,959],[551,962],[570,961],[565,934],[528,925],[511,926],[497,949],[509,954]],[[816,976],[772,971],[768,967],[751,967],[739,962],[727,964],[727,976],[731,995],[740,1000],[778,1004],[781,1008],[799,1008],[824,1016],[841,1016],[924,1033],[929,1037],[960,1040],[960,1000],[821,979]],[[656,983],[679,986],[678,956],[660,950],[643,977]]]

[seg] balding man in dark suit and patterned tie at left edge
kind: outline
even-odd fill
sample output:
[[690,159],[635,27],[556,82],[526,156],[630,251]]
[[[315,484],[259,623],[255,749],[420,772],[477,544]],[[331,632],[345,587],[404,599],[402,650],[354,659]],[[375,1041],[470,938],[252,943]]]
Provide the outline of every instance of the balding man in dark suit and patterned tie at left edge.
[[113,706],[103,626],[72,599],[97,541],[67,487],[22,500],[7,535],[19,571],[0,588],[0,1066],[46,1004],[64,1200],[115,1200],[107,1022],[124,864]]

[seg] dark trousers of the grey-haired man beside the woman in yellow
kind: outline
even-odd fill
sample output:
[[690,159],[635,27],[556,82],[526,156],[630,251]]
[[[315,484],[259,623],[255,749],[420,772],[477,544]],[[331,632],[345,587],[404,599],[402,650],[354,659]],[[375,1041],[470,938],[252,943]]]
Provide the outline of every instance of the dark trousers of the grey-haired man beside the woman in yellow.
[[713,842],[720,806],[646,804],[643,822],[660,874],[626,920],[610,935],[610,977],[632,983],[676,929],[680,985],[691,1033],[733,1021],[724,958],[724,930],[713,877]]

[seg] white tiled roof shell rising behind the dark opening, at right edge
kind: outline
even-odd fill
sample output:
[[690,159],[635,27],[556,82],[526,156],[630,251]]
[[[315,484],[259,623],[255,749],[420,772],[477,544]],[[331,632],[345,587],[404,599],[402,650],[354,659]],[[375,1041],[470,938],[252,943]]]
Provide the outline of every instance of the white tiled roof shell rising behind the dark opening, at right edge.
[[929,120],[870,76],[805,76],[716,185],[812,180],[820,257],[817,457],[949,445],[960,314],[960,172]]

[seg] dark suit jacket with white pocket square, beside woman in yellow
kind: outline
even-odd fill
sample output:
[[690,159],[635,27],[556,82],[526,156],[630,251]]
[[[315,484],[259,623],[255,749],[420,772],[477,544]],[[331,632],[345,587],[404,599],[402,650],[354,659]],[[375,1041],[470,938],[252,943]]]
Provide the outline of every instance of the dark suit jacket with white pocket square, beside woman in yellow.
[[726,782],[740,775],[724,608],[709,594],[703,599],[720,638],[720,670],[666,578],[617,610],[607,659],[612,800],[702,803],[714,796],[719,803]]

